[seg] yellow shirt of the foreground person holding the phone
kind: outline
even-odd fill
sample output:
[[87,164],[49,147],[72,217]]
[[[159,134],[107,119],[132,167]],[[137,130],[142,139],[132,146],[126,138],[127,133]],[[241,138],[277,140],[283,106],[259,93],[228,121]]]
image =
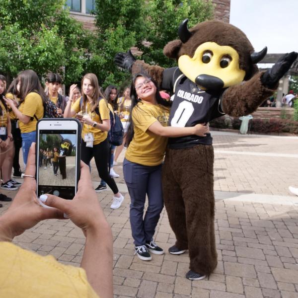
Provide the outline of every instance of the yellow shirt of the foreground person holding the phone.
[[[98,298],[82,268],[0,242],[0,297]],[[100,281],[99,281],[100,282]]]

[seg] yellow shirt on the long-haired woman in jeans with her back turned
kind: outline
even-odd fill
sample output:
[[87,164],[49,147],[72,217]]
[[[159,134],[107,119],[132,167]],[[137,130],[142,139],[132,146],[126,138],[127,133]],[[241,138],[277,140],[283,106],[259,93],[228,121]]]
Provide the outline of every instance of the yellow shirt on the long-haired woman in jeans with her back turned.
[[34,115],[38,119],[41,119],[44,113],[41,96],[35,92],[28,93],[25,97],[25,100],[20,104],[18,109],[22,114],[33,118],[32,120],[30,119],[27,124],[19,121],[21,133],[31,133],[36,131],[37,120],[35,119]]

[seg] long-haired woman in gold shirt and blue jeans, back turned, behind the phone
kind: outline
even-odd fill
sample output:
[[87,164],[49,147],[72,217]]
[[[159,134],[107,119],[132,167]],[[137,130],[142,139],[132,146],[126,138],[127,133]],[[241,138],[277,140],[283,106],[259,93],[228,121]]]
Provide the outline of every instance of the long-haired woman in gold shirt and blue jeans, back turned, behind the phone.
[[22,136],[23,160],[26,166],[29,148],[36,140],[36,123],[44,114],[44,102],[47,98],[37,74],[32,70],[21,72],[17,76],[17,90],[20,105],[17,108],[12,99],[5,99],[19,120]]

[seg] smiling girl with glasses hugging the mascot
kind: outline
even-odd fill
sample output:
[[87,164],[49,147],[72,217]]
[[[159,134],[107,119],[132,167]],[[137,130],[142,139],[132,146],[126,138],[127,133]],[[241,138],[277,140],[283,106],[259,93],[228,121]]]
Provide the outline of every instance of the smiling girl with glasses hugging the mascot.
[[[137,74],[131,85],[132,114],[127,133],[128,149],[123,161],[124,180],[131,197],[130,223],[135,253],[141,260],[164,250],[153,241],[153,234],[163,209],[161,165],[166,137],[205,136],[207,126],[169,127],[171,102],[161,98],[157,84],[144,74]],[[148,196],[148,208],[144,206]]]

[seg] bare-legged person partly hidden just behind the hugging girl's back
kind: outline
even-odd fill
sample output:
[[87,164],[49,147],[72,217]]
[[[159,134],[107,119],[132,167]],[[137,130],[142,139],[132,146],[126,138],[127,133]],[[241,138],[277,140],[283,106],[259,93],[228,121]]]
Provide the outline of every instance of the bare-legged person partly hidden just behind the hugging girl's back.
[[131,112],[131,105],[132,105],[132,100],[130,97],[130,87],[126,87],[124,89],[124,96],[120,97],[117,100],[117,105],[118,105],[118,113],[121,119],[121,123],[123,125],[124,129],[124,137],[123,137],[123,143],[121,146],[118,146],[115,150],[115,156],[114,156],[114,165],[117,165],[117,160],[122,152],[124,145],[126,143],[126,133],[129,127],[129,118],[130,118],[130,112]]

